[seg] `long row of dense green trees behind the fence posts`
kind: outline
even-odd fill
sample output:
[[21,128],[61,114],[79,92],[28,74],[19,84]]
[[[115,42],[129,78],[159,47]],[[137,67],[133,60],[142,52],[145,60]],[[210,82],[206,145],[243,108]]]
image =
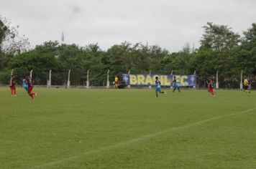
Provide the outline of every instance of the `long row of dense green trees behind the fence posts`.
[[116,74],[121,77],[129,70],[131,74],[148,74],[150,71],[152,74],[170,74],[172,70],[173,74],[193,74],[196,70],[199,85],[203,85],[204,79],[215,76],[218,70],[221,87],[227,80],[239,80],[241,70],[247,76],[256,74],[255,23],[242,36],[227,25],[211,22],[203,29],[198,49],[186,44],[179,52],[129,42],[102,50],[98,44],[81,47],[50,41],[29,49],[28,40],[15,41],[17,29],[14,31],[0,17],[0,82],[8,81],[12,69],[18,78],[33,69],[36,84],[46,84],[52,69],[52,84],[57,85],[65,84],[69,69],[71,85],[84,84],[90,69],[90,84],[96,86],[106,85],[108,69],[111,81]]

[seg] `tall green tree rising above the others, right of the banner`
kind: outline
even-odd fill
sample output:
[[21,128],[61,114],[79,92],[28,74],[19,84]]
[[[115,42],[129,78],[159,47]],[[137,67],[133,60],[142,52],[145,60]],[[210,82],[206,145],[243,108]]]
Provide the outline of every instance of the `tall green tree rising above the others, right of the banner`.
[[219,70],[220,81],[237,74],[234,64],[237,63],[236,50],[239,42],[239,34],[232,32],[228,26],[207,23],[201,47],[193,59],[193,64],[200,65],[196,67],[198,74],[201,77],[211,77]]

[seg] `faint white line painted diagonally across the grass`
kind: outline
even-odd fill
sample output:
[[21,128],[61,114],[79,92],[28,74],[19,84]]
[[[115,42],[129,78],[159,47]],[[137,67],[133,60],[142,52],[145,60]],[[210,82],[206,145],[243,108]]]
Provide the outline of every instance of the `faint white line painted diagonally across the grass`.
[[137,137],[137,138],[134,138],[134,139],[131,139],[131,140],[127,140],[127,141],[121,142],[121,143],[116,143],[114,145],[109,145],[109,146],[106,146],[106,147],[97,148],[95,150],[90,150],[90,151],[81,153],[79,155],[75,155],[75,156],[70,157],[70,158],[63,158],[63,159],[60,159],[60,160],[52,161],[50,163],[44,163],[42,165],[37,165],[37,166],[32,167],[32,168],[47,168],[47,167],[50,167],[50,166],[54,166],[54,165],[58,165],[58,164],[61,164],[61,163],[64,163],[64,162],[75,160],[77,158],[81,158],[81,157],[83,157],[85,155],[90,155],[92,153],[99,153],[102,150],[109,150],[111,148],[121,147],[122,145],[129,145],[131,143],[136,143],[136,142],[139,142],[140,140],[147,140],[147,139],[149,139],[151,137],[155,137],[157,135],[162,135],[165,132],[171,132],[171,131],[174,131],[174,130],[186,129],[186,128],[193,127],[193,126],[196,126],[196,125],[204,124],[204,123],[212,121],[212,120],[219,120],[221,118],[229,117],[229,116],[232,116],[232,115],[239,115],[239,114],[243,114],[243,113],[246,113],[246,112],[252,112],[252,110],[256,110],[256,107],[252,108],[252,109],[244,110],[242,112],[234,112],[234,113],[231,113],[231,114],[228,114],[228,115],[221,115],[221,116],[218,116],[218,117],[212,117],[212,118],[209,118],[209,119],[206,119],[206,120],[201,120],[201,121],[198,121],[198,122],[193,122],[193,123],[188,124],[188,125],[184,125],[184,126],[180,126],[180,127],[173,127],[173,128],[168,129],[168,130],[163,130],[163,131],[160,131],[160,132],[155,132],[155,133],[152,133],[152,134],[149,134],[149,135],[143,135],[142,137]]

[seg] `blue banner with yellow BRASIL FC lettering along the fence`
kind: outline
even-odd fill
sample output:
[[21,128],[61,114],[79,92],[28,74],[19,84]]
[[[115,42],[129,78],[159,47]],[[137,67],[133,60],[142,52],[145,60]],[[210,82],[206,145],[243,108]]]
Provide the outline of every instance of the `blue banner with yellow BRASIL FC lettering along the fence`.
[[174,76],[179,86],[196,86],[196,75],[122,74],[122,80],[127,85],[155,86],[158,77],[162,86],[171,86]]

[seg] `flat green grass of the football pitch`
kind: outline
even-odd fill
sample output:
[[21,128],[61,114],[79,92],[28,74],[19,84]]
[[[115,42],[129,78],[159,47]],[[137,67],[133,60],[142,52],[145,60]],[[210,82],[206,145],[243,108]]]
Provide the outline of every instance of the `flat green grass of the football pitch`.
[[35,91],[0,88],[0,168],[256,168],[254,92]]

